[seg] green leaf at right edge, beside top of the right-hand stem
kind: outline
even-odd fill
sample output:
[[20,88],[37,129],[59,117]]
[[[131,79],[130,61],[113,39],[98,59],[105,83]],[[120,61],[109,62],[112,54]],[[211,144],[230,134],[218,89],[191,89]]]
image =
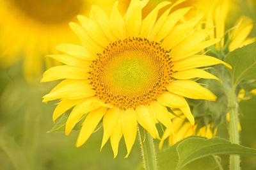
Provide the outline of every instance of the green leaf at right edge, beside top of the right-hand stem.
[[232,84],[237,86],[243,80],[256,79],[256,42],[230,52],[224,59],[232,66]]

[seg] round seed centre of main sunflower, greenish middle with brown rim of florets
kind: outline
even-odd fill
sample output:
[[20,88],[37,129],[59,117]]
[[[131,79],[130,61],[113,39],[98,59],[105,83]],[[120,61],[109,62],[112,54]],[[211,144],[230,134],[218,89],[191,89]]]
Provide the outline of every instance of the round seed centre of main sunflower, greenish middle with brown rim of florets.
[[126,38],[111,43],[90,65],[96,96],[120,109],[147,105],[172,81],[172,58],[159,43]]

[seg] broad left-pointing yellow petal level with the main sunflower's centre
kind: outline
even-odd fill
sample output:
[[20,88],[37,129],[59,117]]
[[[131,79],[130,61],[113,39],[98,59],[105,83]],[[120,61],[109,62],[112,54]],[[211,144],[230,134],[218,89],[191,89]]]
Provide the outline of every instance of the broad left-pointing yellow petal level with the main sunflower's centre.
[[44,72],[41,82],[56,81],[60,79],[87,79],[89,77],[89,67],[75,66],[54,66]]

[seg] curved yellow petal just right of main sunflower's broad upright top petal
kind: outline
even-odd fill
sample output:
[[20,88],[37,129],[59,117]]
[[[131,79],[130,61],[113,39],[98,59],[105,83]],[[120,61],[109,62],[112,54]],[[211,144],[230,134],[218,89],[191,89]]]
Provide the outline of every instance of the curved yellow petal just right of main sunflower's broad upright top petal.
[[150,35],[152,28],[156,22],[157,14],[161,8],[164,6],[167,6],[168,4],[171,4],[169,1],[163,1],[159,3],[152,12],[150,12],[147,17],[142,21],[141,24],[141,35],[145,36],[146,38],[148,35]]

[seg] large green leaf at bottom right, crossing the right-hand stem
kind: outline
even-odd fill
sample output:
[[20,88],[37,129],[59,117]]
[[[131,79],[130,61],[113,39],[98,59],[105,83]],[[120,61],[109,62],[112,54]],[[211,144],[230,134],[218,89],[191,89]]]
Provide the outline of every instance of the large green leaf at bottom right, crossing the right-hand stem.
[[[220,137],[205,139],[204,137],[193,136],[158,153],[159,169],[193,169],[198,166],[195,161],[202,164],[200,169],[205,169],[207,164],[209,165],[208,169],[214,169],[217,162],[215,158],[211,158],[213,155],[230,154],[256,155],[256,150],[238,144],[231,144]],[[205,160],[208,161],[206,165]],[[215,161],[215,164],[213,161]],[[198,168],[195,167],[195,169]]]

